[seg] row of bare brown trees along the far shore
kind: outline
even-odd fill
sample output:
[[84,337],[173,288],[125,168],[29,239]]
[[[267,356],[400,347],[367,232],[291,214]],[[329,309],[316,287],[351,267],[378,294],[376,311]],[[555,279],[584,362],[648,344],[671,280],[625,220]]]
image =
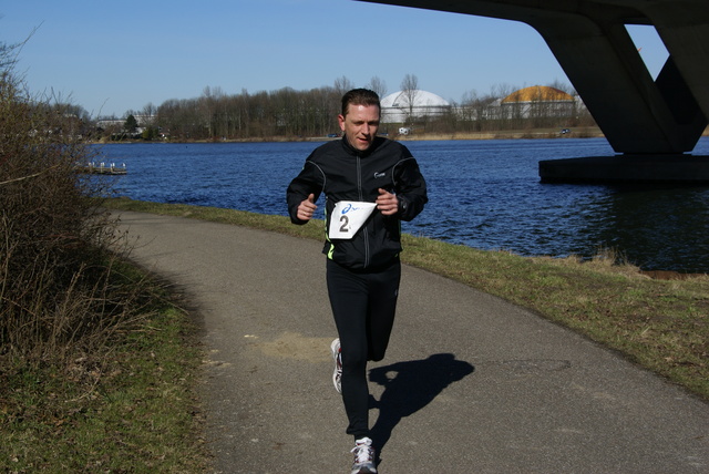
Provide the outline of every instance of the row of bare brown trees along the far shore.
[[[383,97],[386,84],[372,78],[366,85]],[[562,83],[551,87],[575,95],[573,89]],[[321,86],[306,91],[282,87],[276,91],[226,94],[220,87],[205,87],[203,94],[193,99],[172,99],[155,106],[147,104],[142,111],[126,112],[124,124],[114,124],[112,130],[101,130],[104,136],[125,137],[126,126],[140,127],[144,140],[172,141],[229,141],[269,140],[285,137],[327,136],[339,133],[337,115],[340,112],[342,94],[352,89],[347,78],[335,81],[332,86]],[[572,127],[594,125],[584,107],[569,106],[558,110],[540,101],[526,109],[494,109],[495,101],[511,94],[517,87],[500,85],[490,93],[466,93],[460,103],[453,102],[444,111],[434,115],[409,115],[405,123],[417,131],[429,133],[494,132],[540,127]],[[418,79],[407,74],[401,83],[404,95],[414,100]],[[138,118],[140,120],[135,120]],[[129,122],[130,121],[130,122]],[[380,131],[394,133],[404,123],[383,123]]]

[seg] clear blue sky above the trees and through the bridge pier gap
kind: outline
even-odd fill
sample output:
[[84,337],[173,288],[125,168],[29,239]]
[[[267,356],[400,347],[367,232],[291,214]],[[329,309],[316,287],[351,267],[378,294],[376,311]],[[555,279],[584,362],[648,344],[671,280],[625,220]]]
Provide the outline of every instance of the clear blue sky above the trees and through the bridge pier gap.
[[[37,30],[35,30],[37,29]],[[568,83],[531,27],[353,0],[0,0],[0,41],[29,39],[20,72],[94,117],[206,86],[226,94],[309,90],[378,76],[388,93],[407,74],[460,102],[504,85]],[[651,29],[633,32],[651,73],[665,52]]]

